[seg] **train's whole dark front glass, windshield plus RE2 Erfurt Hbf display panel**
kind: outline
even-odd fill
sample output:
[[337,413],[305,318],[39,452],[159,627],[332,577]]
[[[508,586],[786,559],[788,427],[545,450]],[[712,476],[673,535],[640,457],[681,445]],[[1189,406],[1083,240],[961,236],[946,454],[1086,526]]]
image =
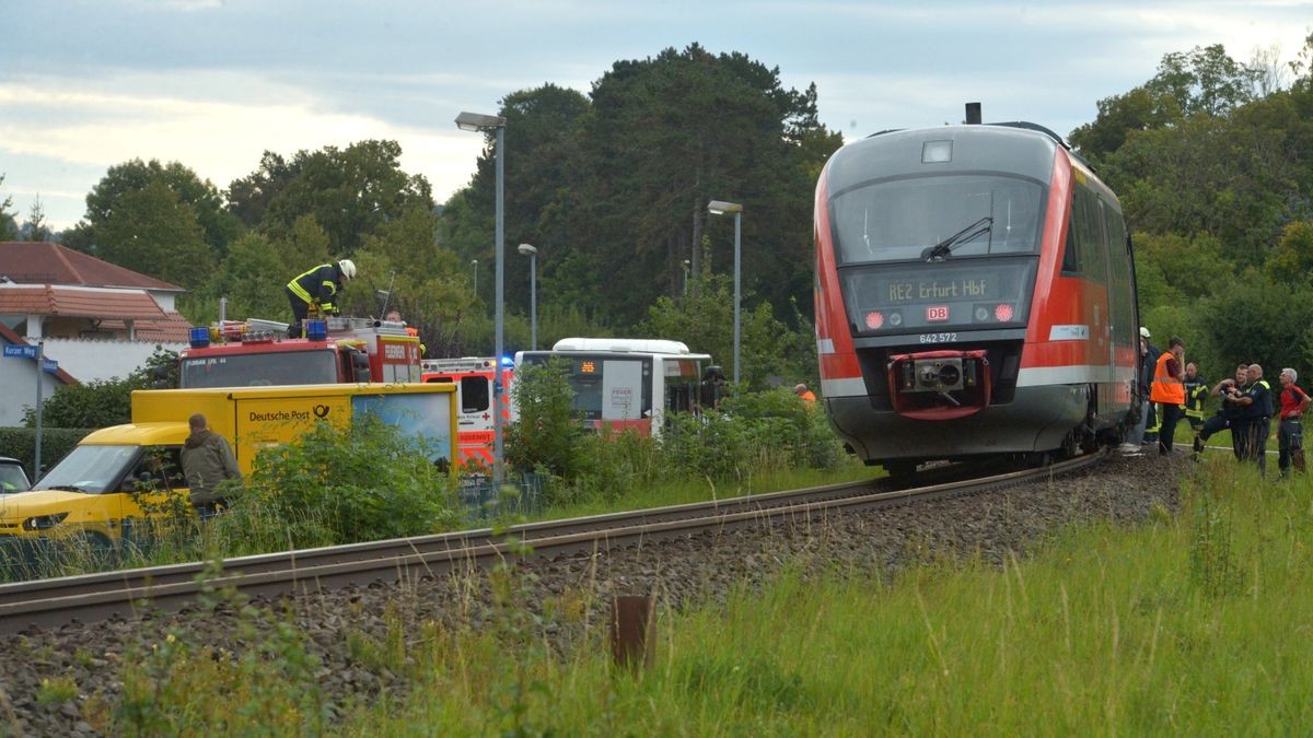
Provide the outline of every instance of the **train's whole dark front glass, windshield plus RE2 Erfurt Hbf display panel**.
[[890,177],[831,200],[853,335],[1024,327],[1046,188],[1010,175]]

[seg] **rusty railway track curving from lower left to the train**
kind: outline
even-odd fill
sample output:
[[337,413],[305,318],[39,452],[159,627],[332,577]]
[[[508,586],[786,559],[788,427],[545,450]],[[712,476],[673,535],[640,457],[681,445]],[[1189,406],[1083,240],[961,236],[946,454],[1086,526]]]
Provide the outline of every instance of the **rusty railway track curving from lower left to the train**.
[[890,485],[865,481],[530,523],[500,533],[478,529],[242,557],[225,559],[222,571],[204,583],[198,578],[207,565],[197,562],[0,584],[0,633],[177,611],[193,603],[202,587],[231,587],[248,596],[284,597],[349,584],[440,576],[465,567],[488,567],[517,555],[524,546],[532,548],[533,555],[544,557],[605,553],[708,531],[723,533],[775,521],[805,521],[848,511],[978,494],[1071,473],[1104,457],[1103,453],[1082,456],[1040,469],[903,490],[881,488]]

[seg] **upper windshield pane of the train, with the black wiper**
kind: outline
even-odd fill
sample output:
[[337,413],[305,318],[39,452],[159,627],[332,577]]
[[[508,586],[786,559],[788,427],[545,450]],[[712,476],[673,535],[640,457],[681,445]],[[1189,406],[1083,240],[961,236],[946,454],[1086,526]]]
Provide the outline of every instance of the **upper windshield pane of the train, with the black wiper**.
[[[1045,188],[1007,175],[895,177],[831,198],[840,264],[1037,253]],[[957,235],[956,240],[952,240]]]

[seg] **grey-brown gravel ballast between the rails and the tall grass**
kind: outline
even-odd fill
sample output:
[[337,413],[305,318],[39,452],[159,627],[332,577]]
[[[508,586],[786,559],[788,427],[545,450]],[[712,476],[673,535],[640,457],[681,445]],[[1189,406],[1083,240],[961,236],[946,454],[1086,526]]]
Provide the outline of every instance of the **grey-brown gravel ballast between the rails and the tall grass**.
[[[517,565],[523,605],[571,616],[542,626],[569,649],[587,628],[604,632],[613,595],[658,597],[663,611],[717,601],[737,584],[767,582],[785,566],[809,571],[856,569],[892,573],[924,555],[979,552],[1002,561],[1024,553],[1046,534],[1078,520],[1144,520],[1155,504],[1175,512],[1176,486],[1190,467],[1183,457],[1113,458],[1098,470],[1053,482],[930,504],[872,511],[810,525],[765,525],[756,534],[704,534],[678,542],[626,549],[607,557],[530,559]],[[381,689],[404,692],[404,679],[352,663],[348,637],[385,642],[398,620],[419,637],[424,621],[487,626],[492,616],[487,579],[466,574],[403,587],[373,586],[298,603],[299,625],[320,659],[320,687],[334,704],[369,701]],[[385,615],[387,613],[387,615]],[[148,650],[172,628],[194,643],[240,651],[232,608],[134,622],[70,626],[8,638],[0,646],[0,734],[95,735],[88,718],[114,704],[125,658]],[[72,678],[77,697],[41,705],[42,679]]]

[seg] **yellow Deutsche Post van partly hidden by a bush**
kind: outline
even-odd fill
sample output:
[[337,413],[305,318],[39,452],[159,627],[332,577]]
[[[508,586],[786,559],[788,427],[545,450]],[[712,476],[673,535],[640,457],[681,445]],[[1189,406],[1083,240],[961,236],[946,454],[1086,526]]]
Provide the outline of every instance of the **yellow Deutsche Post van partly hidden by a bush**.
[[364,414],[423,437],[431,461],[449,466],[453,394],[452,385],[435,383],[138,390],[133,423],[91,433],[32,491],[0,496],[0,541],[85,537],[108,544],[134,520],[161,515],[171,495],[185,503],[179,454],[193,412],[232,444],[243,474],[260,449],[294,441],[318,422],[347,427]]

